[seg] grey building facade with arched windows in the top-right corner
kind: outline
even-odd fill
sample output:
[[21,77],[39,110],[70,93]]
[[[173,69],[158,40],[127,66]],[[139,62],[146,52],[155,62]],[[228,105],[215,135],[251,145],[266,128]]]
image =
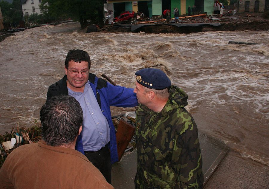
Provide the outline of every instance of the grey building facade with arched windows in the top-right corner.
[[237,11],[239,13],[255,13],[269,11],[269,0],[238,0]]

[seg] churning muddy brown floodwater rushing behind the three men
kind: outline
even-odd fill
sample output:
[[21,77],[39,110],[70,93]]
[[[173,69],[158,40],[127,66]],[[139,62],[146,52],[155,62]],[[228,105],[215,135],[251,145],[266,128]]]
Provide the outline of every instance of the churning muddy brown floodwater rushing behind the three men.
[[[16,32],[0,42],[0,133],[39,120],[48,86],[65,73],[68,50],[83,49],[90,71],[118,85],[134,87],[139,69],[162,69],[187,92],[200,132],[269,166],[268,41],[269,32],[255,31],[86,34],[79,23]],[[112,115],[125,111],[113,108]]]

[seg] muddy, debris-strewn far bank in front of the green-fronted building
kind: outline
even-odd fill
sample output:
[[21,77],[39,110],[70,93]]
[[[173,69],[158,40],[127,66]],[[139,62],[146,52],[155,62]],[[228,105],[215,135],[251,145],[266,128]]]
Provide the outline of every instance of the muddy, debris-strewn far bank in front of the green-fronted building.
[[[169,24],[164,19],[155,19],[154,22],[145,24],[145,21],[139,20],[137,25],[143,23],[143,27],[135,31],[131,30],[133,24],[115,23],[107,25],[100,31],[105,32],[146,32],[146,33],[191,33],[204,31],[235,31],[235,30],[252,30],[268,31],[269,20],[264,18],[264,13],[236,13],[233,16],[206,15],[192,18],[182,18],[180,23],[174,24],[172,20]],[[195,24],[204,24],[201,26],[190,26]],[[142,24],[141,24],[142,25]],[[186,25],[186,26],[184,26]]]

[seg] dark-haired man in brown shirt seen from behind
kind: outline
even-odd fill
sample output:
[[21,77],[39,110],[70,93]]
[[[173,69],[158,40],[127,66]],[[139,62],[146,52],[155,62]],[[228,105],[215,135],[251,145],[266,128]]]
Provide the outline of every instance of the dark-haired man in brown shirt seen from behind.
[[42,140],[19,146],[0,169],[0,188],[113,188],[79,151],[83,112],[71,96],[53,97],[40,110]]

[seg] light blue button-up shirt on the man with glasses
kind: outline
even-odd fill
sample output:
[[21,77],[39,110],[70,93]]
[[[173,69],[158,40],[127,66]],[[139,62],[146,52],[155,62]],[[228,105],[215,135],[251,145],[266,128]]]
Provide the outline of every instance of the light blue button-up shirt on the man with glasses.
[[97,151],[110,140],[109,125],[91,89],[90,82],[85,84],[84,91],[74,92],[68,88],[68,94],[74,97],[83,111],[82,142],[84,151]]

